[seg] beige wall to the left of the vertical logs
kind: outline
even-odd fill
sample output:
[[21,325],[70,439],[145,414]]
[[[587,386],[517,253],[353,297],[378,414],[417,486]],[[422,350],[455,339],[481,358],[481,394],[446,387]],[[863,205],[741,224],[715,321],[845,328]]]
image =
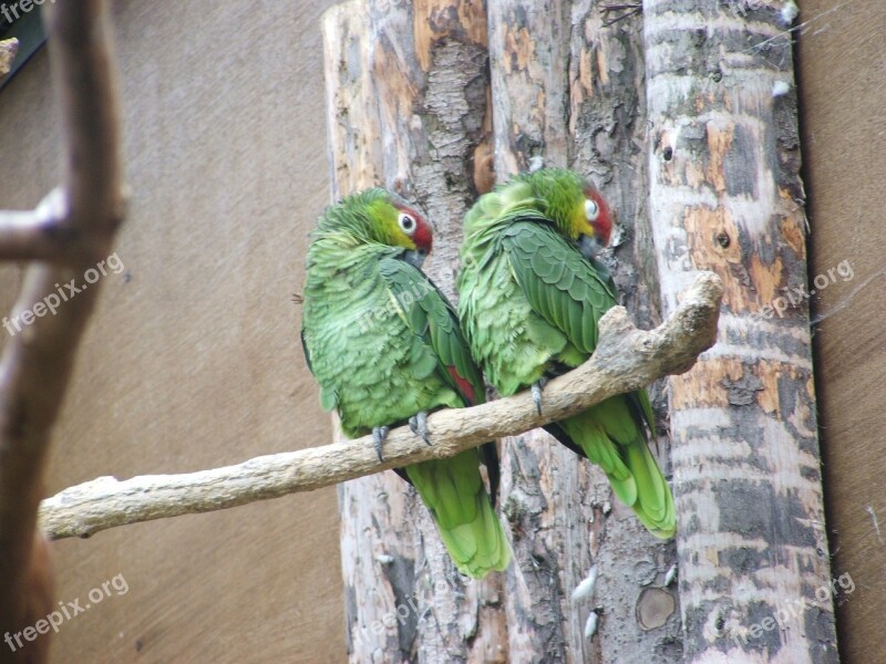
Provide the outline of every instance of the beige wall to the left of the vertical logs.
[[[58,429],[48,490],[197,470],[330,439],[298,341],[306,235],[327,203],[329,2],[117,1],[133,198]],[[41,52],[0,93],[3,207],[56,181]],[[7,310],[19,273],[0,271]],[[1,329],[0,329],[1,330]],[[2,332],[6,334],[6,332]],[[333,489],[52,547],[55,662],[338,662]]]

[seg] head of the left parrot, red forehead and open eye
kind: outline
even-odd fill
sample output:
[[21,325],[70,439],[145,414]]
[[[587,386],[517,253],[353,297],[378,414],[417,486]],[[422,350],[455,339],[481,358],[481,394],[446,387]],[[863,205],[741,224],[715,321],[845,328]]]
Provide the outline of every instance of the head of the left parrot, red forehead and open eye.
[[318,224],[320,234],[344,231],[357,242],[403,248],[403,258],[421,267],[431,252],[433,228],[403,198],[374,188],[348,196],[327,208]]

